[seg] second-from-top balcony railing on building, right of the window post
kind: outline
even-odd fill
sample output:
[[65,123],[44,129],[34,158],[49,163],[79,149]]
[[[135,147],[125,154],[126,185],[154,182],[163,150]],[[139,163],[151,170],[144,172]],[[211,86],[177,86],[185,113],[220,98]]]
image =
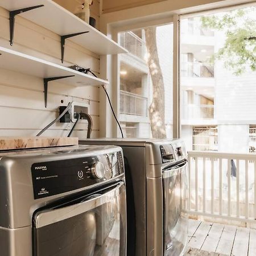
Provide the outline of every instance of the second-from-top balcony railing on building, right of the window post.
[[181,77],[214,78],[214,64],[183,62],[180,67]]

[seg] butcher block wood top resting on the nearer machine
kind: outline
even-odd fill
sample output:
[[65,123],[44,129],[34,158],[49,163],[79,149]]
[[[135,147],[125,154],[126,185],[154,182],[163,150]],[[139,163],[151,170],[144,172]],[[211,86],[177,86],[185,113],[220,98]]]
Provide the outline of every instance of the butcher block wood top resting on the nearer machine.
[[0,137],[0,150],[77,145],[77,137]]

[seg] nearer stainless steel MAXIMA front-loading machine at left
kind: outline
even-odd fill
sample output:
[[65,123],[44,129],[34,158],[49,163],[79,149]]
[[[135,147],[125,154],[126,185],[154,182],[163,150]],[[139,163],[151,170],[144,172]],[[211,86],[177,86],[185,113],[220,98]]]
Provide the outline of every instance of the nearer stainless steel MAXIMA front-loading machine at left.
[[0,153],[1,256],[126,255],[122,149]]

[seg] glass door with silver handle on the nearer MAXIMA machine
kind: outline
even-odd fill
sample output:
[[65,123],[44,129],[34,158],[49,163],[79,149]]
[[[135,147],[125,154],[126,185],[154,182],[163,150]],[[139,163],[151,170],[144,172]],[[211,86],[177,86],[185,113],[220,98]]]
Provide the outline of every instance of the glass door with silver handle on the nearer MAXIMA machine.
[[33,218],[34,256],[125,256],[125,184],[39,210]]

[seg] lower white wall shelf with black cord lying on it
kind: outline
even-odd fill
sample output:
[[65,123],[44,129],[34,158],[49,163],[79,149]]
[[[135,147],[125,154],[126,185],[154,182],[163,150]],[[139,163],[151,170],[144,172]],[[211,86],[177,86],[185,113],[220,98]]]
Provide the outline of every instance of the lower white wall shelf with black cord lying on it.
[[102,84],[109,84],[108,81],[98,79],[97,77],[86,75],[71,68],[66,68],[61,65],[57,65],[49,61],[38,59],[36,57],[32,57],[30,55],[4,47],[0,47],[0,53],[0,68],[3,69],[9,69],[11,71],[40,77],[42,79],[75,75],[74,77],[67,77],[65,79],[57,80],[57,82],[62,84],[73,86],[100,86]]

